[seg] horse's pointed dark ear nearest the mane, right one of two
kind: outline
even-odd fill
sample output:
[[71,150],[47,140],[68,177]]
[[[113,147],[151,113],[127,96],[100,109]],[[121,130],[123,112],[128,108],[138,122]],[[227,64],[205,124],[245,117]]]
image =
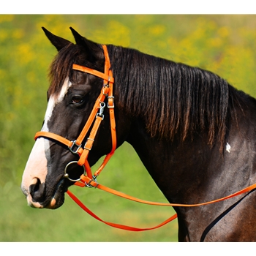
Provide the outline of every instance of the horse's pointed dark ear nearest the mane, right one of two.
[[[75,38],[75,42],[77,43],[77,45],[83,46],[88,56],[94,57],[96,59],[103,56],[102,48],[100,48],[99,44],[97,44],[96,42],[92,42],[89,39],[86,39],[85,37],[82,37],[72,27],[70,27],[69,29],[72,31],[72,34]],[[91,59],[91,61],[93,61],[93,58]]]

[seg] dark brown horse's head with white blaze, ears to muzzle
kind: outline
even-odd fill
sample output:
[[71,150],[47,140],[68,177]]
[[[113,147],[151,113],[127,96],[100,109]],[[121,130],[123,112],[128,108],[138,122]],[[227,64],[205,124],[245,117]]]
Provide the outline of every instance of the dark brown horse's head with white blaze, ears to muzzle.
[[[50,132],[75,141],[94,108],[102,89],[102,78],[72,69],[72,65],[83,65],[97,72],[104,72],[105,56],[102,45],[80,36],[72,28],[70,29],[76,44],[57,37],[45,28],[42,29],[59,53],[50,67],[48,107],[41,132]],[[104,102],[102,104],[105,105]],[[111,151],[109,127],[109,112],[105,111],[104,122],[97,132],[94,147],[88,157],[90,165],[94,165],[100,157]],[[81,146],[85,146],[85,143],[83,140]],[[29,206],[58,208],[64,203],[64,193],[85,171],[83,166],[72,164],[79,159],[78,154],[74,154],[76,151],[77,148],[69,151],[67,146],[53,138],[38,136],[21,184]]]

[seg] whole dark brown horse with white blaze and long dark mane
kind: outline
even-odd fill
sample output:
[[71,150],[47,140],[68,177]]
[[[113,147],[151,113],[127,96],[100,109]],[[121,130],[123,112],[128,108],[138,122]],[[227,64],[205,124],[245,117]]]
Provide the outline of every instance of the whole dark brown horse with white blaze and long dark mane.
[[[72,28],[75,43],[42,29],[58,54],[50,65],[41,133],[22,178],[29,206],[59,208],[68,188],[113,151],[113,130],[115,147],[124,141],[132,145],[170,203],[207,202],[256,183],[253,97],[199,67],[132,48],[101,45]],[[108,78],[97,75],[105,73],[104,50],[112,74]],[[104,90],[111,83],[113,95],[109,96]],[[98,98],[102,90],[105,99]],[[105,108],[105,118],[91,139],[93,147],[88,148],[86,138],[93,128],[86,130],[80,143],[76,139],[95,102],[100,110],[97,116]],[[78,151],[85,148],[89,154],[78,164]],[[91,180],[96,181],[95,176]],[[255,189],[218,203],[173,208],[178,241],[256,241]]]

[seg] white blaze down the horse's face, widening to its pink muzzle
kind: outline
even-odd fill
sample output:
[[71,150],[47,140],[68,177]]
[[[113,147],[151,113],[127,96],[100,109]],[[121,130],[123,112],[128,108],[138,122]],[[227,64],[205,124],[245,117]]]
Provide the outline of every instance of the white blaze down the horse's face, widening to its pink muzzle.
[[[61,92],[58,96],[51,96],[48,101],[48,107],[45,113],[44,125],[41,129],[43,132],[49,132],[48,121],[50,120],[53,109],[55,106],[64,99],[67,90],[72,84],[69,82],[68,78],[64,81],[61,88]],[[31,195],[29,193],[29,187],[31,184],[36,184],[38,179],[41,183],[45,182],[46,175],[48,173],[47,168],[47,158],[46,155],[49,154],[50,142],[45,138],[38,138],[34,143],[34,147],[29,155],[28,162],[23,173],[21,189],[27,197],[29,206],[40,208],[42,207],[39,203],[34,203],[32,201]]]

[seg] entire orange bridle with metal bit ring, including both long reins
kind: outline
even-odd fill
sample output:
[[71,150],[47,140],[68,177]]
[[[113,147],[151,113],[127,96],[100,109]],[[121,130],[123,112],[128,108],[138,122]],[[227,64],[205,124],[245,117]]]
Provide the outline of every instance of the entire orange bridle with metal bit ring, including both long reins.
[[[104,80],[103,82],[103,87],[102,90],[99,94],[99,97],[97,98],[95,104],[94,104],[94,108],[91,111],[91,114],[88,118],[88,120],[86,121],[85,126],[83,127],[82,132],[80,132],[80,135],[78,136],[77,140],[67,140],[66,138],[63,138],[59,135],[56,135],[52,132],[37,132],[35,135],[35,140],[37,140],[37,138],[39,137],[44,137],[44,138],[50,138],[53,140],[57,140],[61,143],[63,143],[64,145],[66,145],[69,150],[73,153],[73,154],[78,154],[80,159],[78,161],[73,161],[73,162],[69,162],[69,164],[67,164],[65,170],[64,170],[64,177],[65,178],[69,178],[69,173],[67,173],[67,167],[69,165],[72,164],[77,164],[80,166],[83,166],[84,168],[84,173],[83,175],[80,176],[80,178],[78,179],[72,179],[69,178],[69,180],[71,181],[75,181],[75,185],[79,186],[79,187],[94,187],[94,188],[98,188],[98,189],[102,189],[106,192],[109,192],[113,195],[118,195],[119,197],[124,197],[126,199],[129,200],[133,200],[135,202],[138,203],[145,203],[145,204],[149,204],[149,205],[154,205],[154,206],[176,206],[176,207],[194,207],[194,206],[205,206],[211,203],[217,203],[223,200],[227,200],[231,197],[236,197],[238,195],[241,195],[245,192],[249,192],[252,191],[252,189],[256,189],[256,184],[252,184],[249,187],[246,187],[245,189],[241,189],[240,191],[232,194],[232,195],[228,195],[227,197],[222,197],[219,198],[217,200],[212,200],[206,203],[197,203],[197,204],[192,204],[192,205],[188,205],[188,204],[178,204],[178,203],[155,203],[155,202],[150,202],[150,201],[146,201],[146,200],[141,200],[138,199],[136,197],[132,197],[129,195],[126,195],[122,192],[118,192],[114,189],[110,189],[108,187],[105,187],[101,184],[97,183],[97,176],[99,176],[99,173],[101,173],[101,171],[103,170],[103,168],[105,167],[105,165],[108,163],[108,160],[110,159],[110,157],[113,156],[115,150],[116,150],[116,121],[115,121],[115,115],[114,115],[114,97],[113,97],[113,83],[114,83],[114,78],[113,78],[113,72],[110,69],[110,59],[108,56],[108,49],[106,47],[106,45],[102,45],[102,48],[104,50],[104,55],[105,55],[105,72],[99,72],[97,70],[94,69],[90,69],[89,67],[83,67],[77,64],[73,64],[72,68],[81,72],[86,72],[89,73],[91,75],[95,75],[98,78],[102,78]],[[109,154],[106,155],[105,159],[102,162],[102,165],[100,165],[100,167],[98,168],[98,170],[94,173],[94,175],[92,175],[91,173],[91,167],[89,165],[89,162],[87,160],[88,155],[89,155],[89,151],[91,151],[91,148],[93,146],[94,143],[94,138],[97,135],[97,131],[99,129],[99,125],[101,124],[104,115],[103,115],[103,111],[105,108],[105,97],[108,97],[108,108],[110,111],[110,129],[111,129],[111,137],[112,137],[112,150],[110,151]],[[83,140],[86,137],[86,134],[89,132],[89,129],[91,128],[92,124],[94,123],[89,138],[87,138],[86,140],[86,144],[84,147],[82,147],[82,143]],[[87,175],[86,175],[87,174]],[[77,197],[75,197],[75,195],[72,194],[72,192],[70,192],[69,190],[67,191],[67,194],[72,198],[72,200],[75,200],[76,203],[78,203],[78,206],[80,206],[81,208],[83,208],[84,211],[86,211],[88,214],[91,215],[91,217],[94,217],[95,219],[99,220],[100,222],[104,222],[107,225],[110,225],[111,227],[116,227],[116,228],[120,228],[123,230],[129,230],[129,231],[145,231],[145,230],[153,230],[157,227],[162,227],[163,225],[167,224],[168,222],[171,222],[173,219],[176,219],[177,214],[174,214],[172,217],[170,217],[169,219],[166,219],[164,222],[162,222],[161,224],[155,226],[155,227],[149,227],[149,228],[138,228],[138,227],[129,227],[126,225],[119,225],[119,224],[115,224],[112,222],[105,222],[104,220],[100,219],[99,217],[97,217],[97,215],[95,215],[94,213],[92,213],[89,208],[87,208],[86,206],[83,205],[83,203],[80,202],[80,200],[78,200]]]

